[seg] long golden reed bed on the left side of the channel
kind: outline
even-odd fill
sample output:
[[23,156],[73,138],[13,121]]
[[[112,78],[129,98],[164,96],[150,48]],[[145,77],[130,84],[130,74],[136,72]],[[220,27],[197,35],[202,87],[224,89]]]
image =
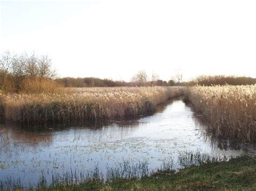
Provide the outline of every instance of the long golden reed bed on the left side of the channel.
[[152,114],[182,88],[69,88],[61,93],[1,96],[4,117],[21,123],[88,122]]

